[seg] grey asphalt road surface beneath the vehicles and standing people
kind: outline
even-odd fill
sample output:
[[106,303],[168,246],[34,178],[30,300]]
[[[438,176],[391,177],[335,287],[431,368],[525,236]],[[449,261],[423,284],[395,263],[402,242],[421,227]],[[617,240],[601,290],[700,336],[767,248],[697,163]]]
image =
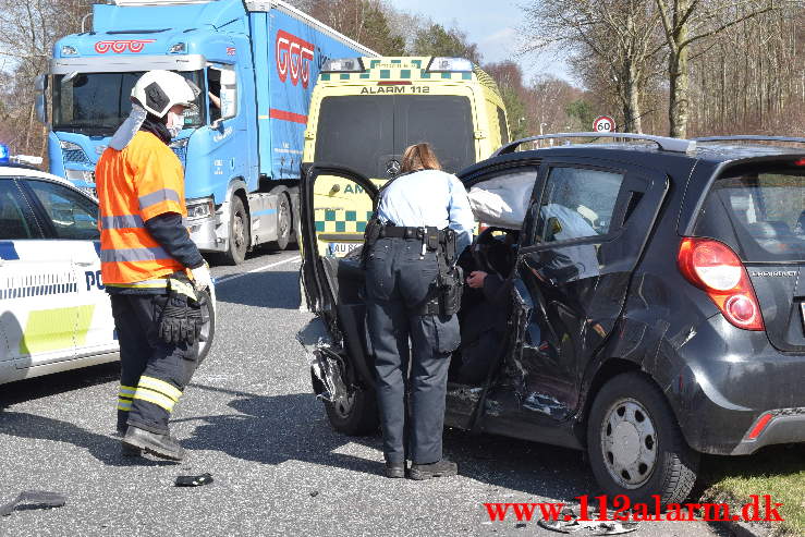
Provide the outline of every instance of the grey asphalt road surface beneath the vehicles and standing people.
[[[120,455],[117,364],[0,386],[0,504],[28,489],[68,496],[64,508],[0,518],[0,536],[561,535],[491,523],[483,503],[597,493],[578,452],[448,430],[461,476],[392,480],[379,475],[379,435],[332,431],[294,338],[310,318],[298,267],[286,252],[214,269],[215,344],[174,412],[190,451],[181,464]],[[206,472],[209,486],[172,485]],[[631,535],[724,535],[716,532],[654,522]]]

